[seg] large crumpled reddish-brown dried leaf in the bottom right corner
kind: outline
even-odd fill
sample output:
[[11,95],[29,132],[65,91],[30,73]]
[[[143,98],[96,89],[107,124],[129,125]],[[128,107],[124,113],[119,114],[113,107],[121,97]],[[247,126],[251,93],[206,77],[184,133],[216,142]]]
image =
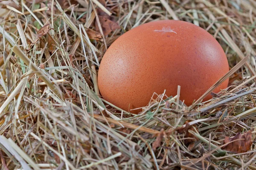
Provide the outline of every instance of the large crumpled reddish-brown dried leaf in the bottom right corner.
[[[241,139],[241,140],[237,140]],[[236,141],[235,141],[236,140]],[[234,142],[232,142],[234,141]],[[231,143],[229,143],[231,142]],[[253,141],[252,141],[252,133],[248,131],[247,133],[241,134],[240,132],[236,134],[233,138],[225,137],[224,144],[227,144],[223,147],[224,150],[234,152],[234,153],[244,153],[250,150]]]

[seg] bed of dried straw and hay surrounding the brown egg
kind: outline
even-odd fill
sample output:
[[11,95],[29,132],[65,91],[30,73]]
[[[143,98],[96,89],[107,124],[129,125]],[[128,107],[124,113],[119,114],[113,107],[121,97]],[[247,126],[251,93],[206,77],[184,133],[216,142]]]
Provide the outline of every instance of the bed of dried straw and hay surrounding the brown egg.
[[[256,170],[254,0],[9,0],[0,6],[1,169]],[[102,37],[99,10],[120,28]],[[220,42],[233,68],[220,82],[229,77],[230,87],[192,107],[179,102],[178,88],[177,96],[159,95],[139,115],[101,99],[97,70],[106,48],[131,28],[165,19],[199,25]],[[38,37],[47,24],[52,29]],[[248,130],[249,151],[222,150],[225,136]]]

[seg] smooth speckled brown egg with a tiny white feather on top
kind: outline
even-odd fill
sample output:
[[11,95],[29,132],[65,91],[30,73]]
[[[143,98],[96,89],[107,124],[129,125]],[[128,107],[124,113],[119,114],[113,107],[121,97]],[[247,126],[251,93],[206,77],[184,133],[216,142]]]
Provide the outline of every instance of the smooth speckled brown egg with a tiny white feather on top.
[[[154,92],[177,95],[180,85],[180,100],[191,105],[228,71],[227,57],[211,34],[192,23],[161,20],[113,42],[100,63],[99,90],[108,102],[130,111],[148,105]],[[214,92],[227,85],[228,80]]]

